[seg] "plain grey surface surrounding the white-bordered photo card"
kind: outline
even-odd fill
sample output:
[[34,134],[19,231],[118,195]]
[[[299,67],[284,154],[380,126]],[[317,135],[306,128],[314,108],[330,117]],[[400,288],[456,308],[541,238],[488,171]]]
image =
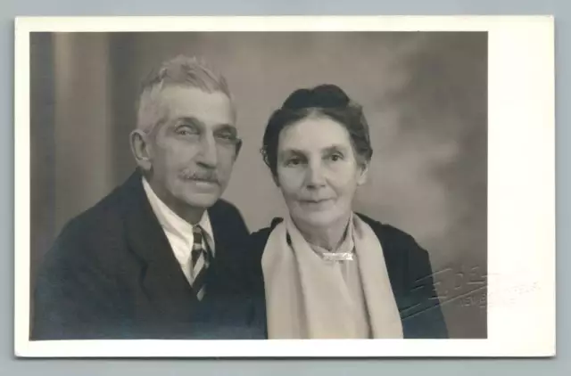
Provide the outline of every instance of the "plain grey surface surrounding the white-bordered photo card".
[[[292,3],[262,3],[250,2],[243,4],[243,2],[229,2],[225,4],[220,3],[204,3],[204,4],[175,4],[174,2],[162,1],[160,4],[141,4],[140,2],[117,2],[117,1],[98,1],[93,4],[69,4],[58,7],[57,2],[50,2],[41,4],[40,2],[19,2],[17,8],[15,4],[7,4],[6,10],[3,9],[3,37],[4,45],[9,46],[4,52],[4,59],[0,60],[0,70],[3,72],[4,82],[12,82],[13,72],[13,24],[12,17],[15,15],[80,15],[80,14],[364,14],[364,13],[385,13],[385,14],[455,14],[455,13],[555,13],[557,20],[557,64],[559,67],[568,66],[568,21],[563,7],[564,2],[501,2],[496,4],[495,1],[441,1],[430,2],[424,1],[416,2],[376,2],[376,4],[364,4],[359,1],[353,1],[351,4],[346,2],[329,2],[321,4],[320,2],[297,2]],[[302,4],[303,3],[303,4]],[[63,4],[63,2],[61,3]],[[6,8],[6,5],[3,4]],[[4,252],[5,261],[2,263],[4,270],[3,275],[6,276],[4,288],[1,290],[3,298],[5,298],[5,319],[4,325],[6,333],[9,335],[4,337],[4,354],[9,358],[12,354],[13,337],[12,337],[12,166],[13,166],[13,147],[12,147],[12,92],[13,86],[6,85],[2,91],[4,101],[0,102],[0,112],[4,114],[4,129],[5,136],[3,138],[5,152],[3,163],[0,165],[4,168],[5,176],[11,176],[8,184],[5,184],[5,191],[3,192],[3,200],[0,205],[4,208],[3,212],[6,214],[4,225],[4,239],[6,239],[6,249]],[[565,99],[568,101],[569,82],[567,72],[563,69],[558,69],[558,91],[557,103]],[[563,98],[563,99],[562,99]],[[558,106],[557,111],[558,124],[565,124],[568,117],[568,110],[564,106]],[[558,129],[558,246],[559,249],[566,249],[569,245],[569,237],[564,231],[563,225],[568,225],[569,220],[569,201],[567,192],[569,192],[569,176],[566,159],[569,158],[568,151],[565,146],[569,143],[568,130],[565,127],[559,126]],[[566,192],[563,194],[561,192]],[[411,360],[369,360],[369,361],[9,361],[3,364],[3,371],[7,374],[12,373],[29,373],[32,372],[49,372],[50,374],[179,374],[180,372],[199,372],[200,374],[219,374],[232,372],[233,374],[265,374],[269,372],[277,372],[279,374],[291,373],[304,373],[313,374],[318,370],[324,374],[345,374],[349,371],[357,371],[363,373],[377,374],[380,372],[410,372],[410,373],[435,373],[439,374],[481,374],[486,373],[503,373],[513,371],[517,366],[520,372],[533,372],[537,374],[563,374],[563,370],[568,368],[568,320],[569,307],[567,303],[567,287],[569,285],[568,276],[561,273],[563,270],[561,265],[568,265],[568,254],[560,252],[558,254],[558,298],[559,312],[558,317],[565,319],[558,320],[558,354],[559,359],[556,361],[542,361],[542,360],[529,360],[529,361],[510,361],[510,360],[488,360],[483,362],[476,361],[460,361],[460,360],[433,360],[433,361],[411,361]],[[79,371],[81,370],[81,371]]]

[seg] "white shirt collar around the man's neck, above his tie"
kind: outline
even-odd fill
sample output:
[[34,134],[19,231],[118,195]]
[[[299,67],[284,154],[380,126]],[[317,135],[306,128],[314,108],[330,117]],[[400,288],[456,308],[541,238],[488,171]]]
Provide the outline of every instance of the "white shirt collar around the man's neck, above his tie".
[[[154,215],[159,219],[159,223],[164,231],[173,233],[183,239],[193,238],[193,225],[186,222],[185,219],[178,216],[171,208],[169,208],[159,196],[153,191],[151,184],[149,184],[145,176],[143,177],[143,188],[145,189],[146,197],[151,203]],[[203,217],[198,222],[203,228],[203,231],[208,235],[211,246],[214,244],[214,234],[212,231],[211,219],[208,216],[208,210],[204,210]],[[213,249],[213,247],[211,247]]]

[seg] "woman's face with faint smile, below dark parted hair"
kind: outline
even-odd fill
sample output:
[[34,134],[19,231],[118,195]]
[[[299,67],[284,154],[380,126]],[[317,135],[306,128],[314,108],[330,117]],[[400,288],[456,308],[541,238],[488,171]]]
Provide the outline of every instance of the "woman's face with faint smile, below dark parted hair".
[[349,133],[333,119],[302,119],[279,135],[277,185],[298,225],[327,227],[346,220],[366,173]]

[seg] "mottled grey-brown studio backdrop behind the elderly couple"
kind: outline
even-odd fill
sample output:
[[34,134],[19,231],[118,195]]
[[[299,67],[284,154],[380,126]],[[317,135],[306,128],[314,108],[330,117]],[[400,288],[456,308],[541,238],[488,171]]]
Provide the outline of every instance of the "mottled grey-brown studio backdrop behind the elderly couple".
[[321,83],[360,102],[374,154],[355,208],[429,251],[452,337],[486,337],[486,33],[42,33],[30,47],[32,282],[62,225],[135,167],[139,80],[186,53],[236,96],[244,148],[224,196],[251,230],[284,210],[259,153],[271,111]]

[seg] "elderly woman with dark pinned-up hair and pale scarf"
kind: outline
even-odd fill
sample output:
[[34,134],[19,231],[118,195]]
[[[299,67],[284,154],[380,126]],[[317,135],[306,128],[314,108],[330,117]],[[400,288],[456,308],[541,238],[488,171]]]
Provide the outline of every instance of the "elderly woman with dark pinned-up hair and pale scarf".
[[289,212],[252,234],[268,338],[446,338],[426,251],[352,211],[372,155],[360,106],[337,86],[297,90],[261,151]]

